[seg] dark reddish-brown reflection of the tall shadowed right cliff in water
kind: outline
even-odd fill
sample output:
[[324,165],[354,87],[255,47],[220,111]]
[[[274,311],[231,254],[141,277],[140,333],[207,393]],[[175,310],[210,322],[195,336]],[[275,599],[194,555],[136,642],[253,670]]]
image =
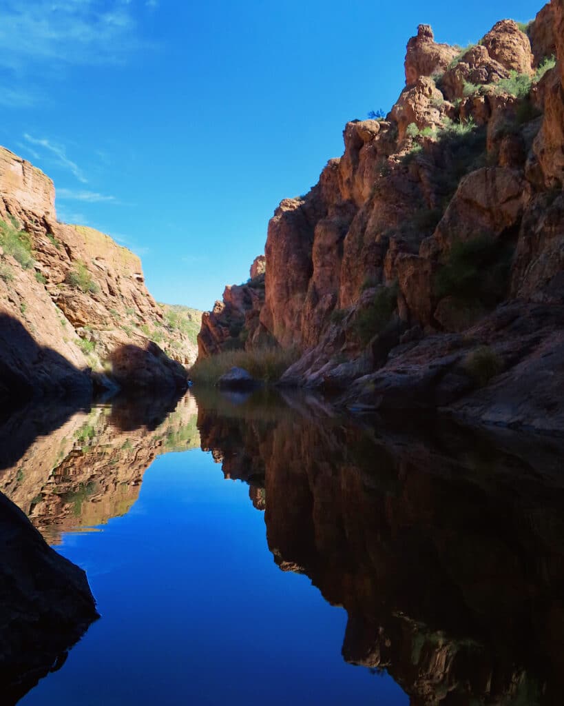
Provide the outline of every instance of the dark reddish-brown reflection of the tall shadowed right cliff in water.
[[413,704],[560,702],[556,443],[450,428],[378,436],[297,414],[265,425],[244,408],[227,428],[214,417],[200,404],[202,443],[232,476],[243,442],[238,477],[259,481],[251,497],[278,566],[348,612],[345,659],[387,669]]

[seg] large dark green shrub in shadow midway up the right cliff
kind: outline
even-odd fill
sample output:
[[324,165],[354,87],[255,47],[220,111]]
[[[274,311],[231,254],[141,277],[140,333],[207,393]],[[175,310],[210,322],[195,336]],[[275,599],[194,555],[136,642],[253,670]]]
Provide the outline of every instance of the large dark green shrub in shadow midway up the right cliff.
[[507,292],[511,254],[508,246],[487,236],[456,241],[436,274],[436,296],[494,306]]

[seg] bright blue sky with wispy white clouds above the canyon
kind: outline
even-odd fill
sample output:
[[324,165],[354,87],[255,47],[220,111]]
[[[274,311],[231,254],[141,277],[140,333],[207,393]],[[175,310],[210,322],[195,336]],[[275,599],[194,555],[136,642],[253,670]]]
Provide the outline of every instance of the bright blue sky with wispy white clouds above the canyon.
[[529,0],[4,0],[0,144],[59,218],[137,252],[160,301],[209,309],[264,251],[342,130],[390,109],[417,24],[465,45]]

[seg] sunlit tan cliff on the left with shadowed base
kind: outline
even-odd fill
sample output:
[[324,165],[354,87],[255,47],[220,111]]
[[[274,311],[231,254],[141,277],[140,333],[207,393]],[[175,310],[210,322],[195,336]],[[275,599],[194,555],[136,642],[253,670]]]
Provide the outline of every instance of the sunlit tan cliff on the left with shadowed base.
[[[0,390],[6,394],[6,378],[18,369],[36,394],[56,392],[71,370],[73,385],[83,388],[91,385],[89,369],[103,380],[111,376],[116,350],[142,352],[151,340],[167,355],[150,360],[154,381],[150,375],[135,380],[130,366],[131,383],[161,386],[168,378],[166,384],[176,384],[184,373],[175,360],[191,363],[195,345],[147,292],[140,259],[107,235],[59,223],[54,196],[48,177],[0,148]],[[15,330],[27,332],[35,362],[11,340]],[[40,353],[47,350],[49,361]]]

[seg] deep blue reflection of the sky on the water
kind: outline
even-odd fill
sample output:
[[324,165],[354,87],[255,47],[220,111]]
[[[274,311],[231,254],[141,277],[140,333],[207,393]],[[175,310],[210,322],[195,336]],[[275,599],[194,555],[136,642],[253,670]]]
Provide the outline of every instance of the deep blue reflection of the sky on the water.
[[131,513],[59,551],[102,618],[22,705],[407,705],[343,662],[345,612],[276,567],[248,487],[200,450],[159,457]]

